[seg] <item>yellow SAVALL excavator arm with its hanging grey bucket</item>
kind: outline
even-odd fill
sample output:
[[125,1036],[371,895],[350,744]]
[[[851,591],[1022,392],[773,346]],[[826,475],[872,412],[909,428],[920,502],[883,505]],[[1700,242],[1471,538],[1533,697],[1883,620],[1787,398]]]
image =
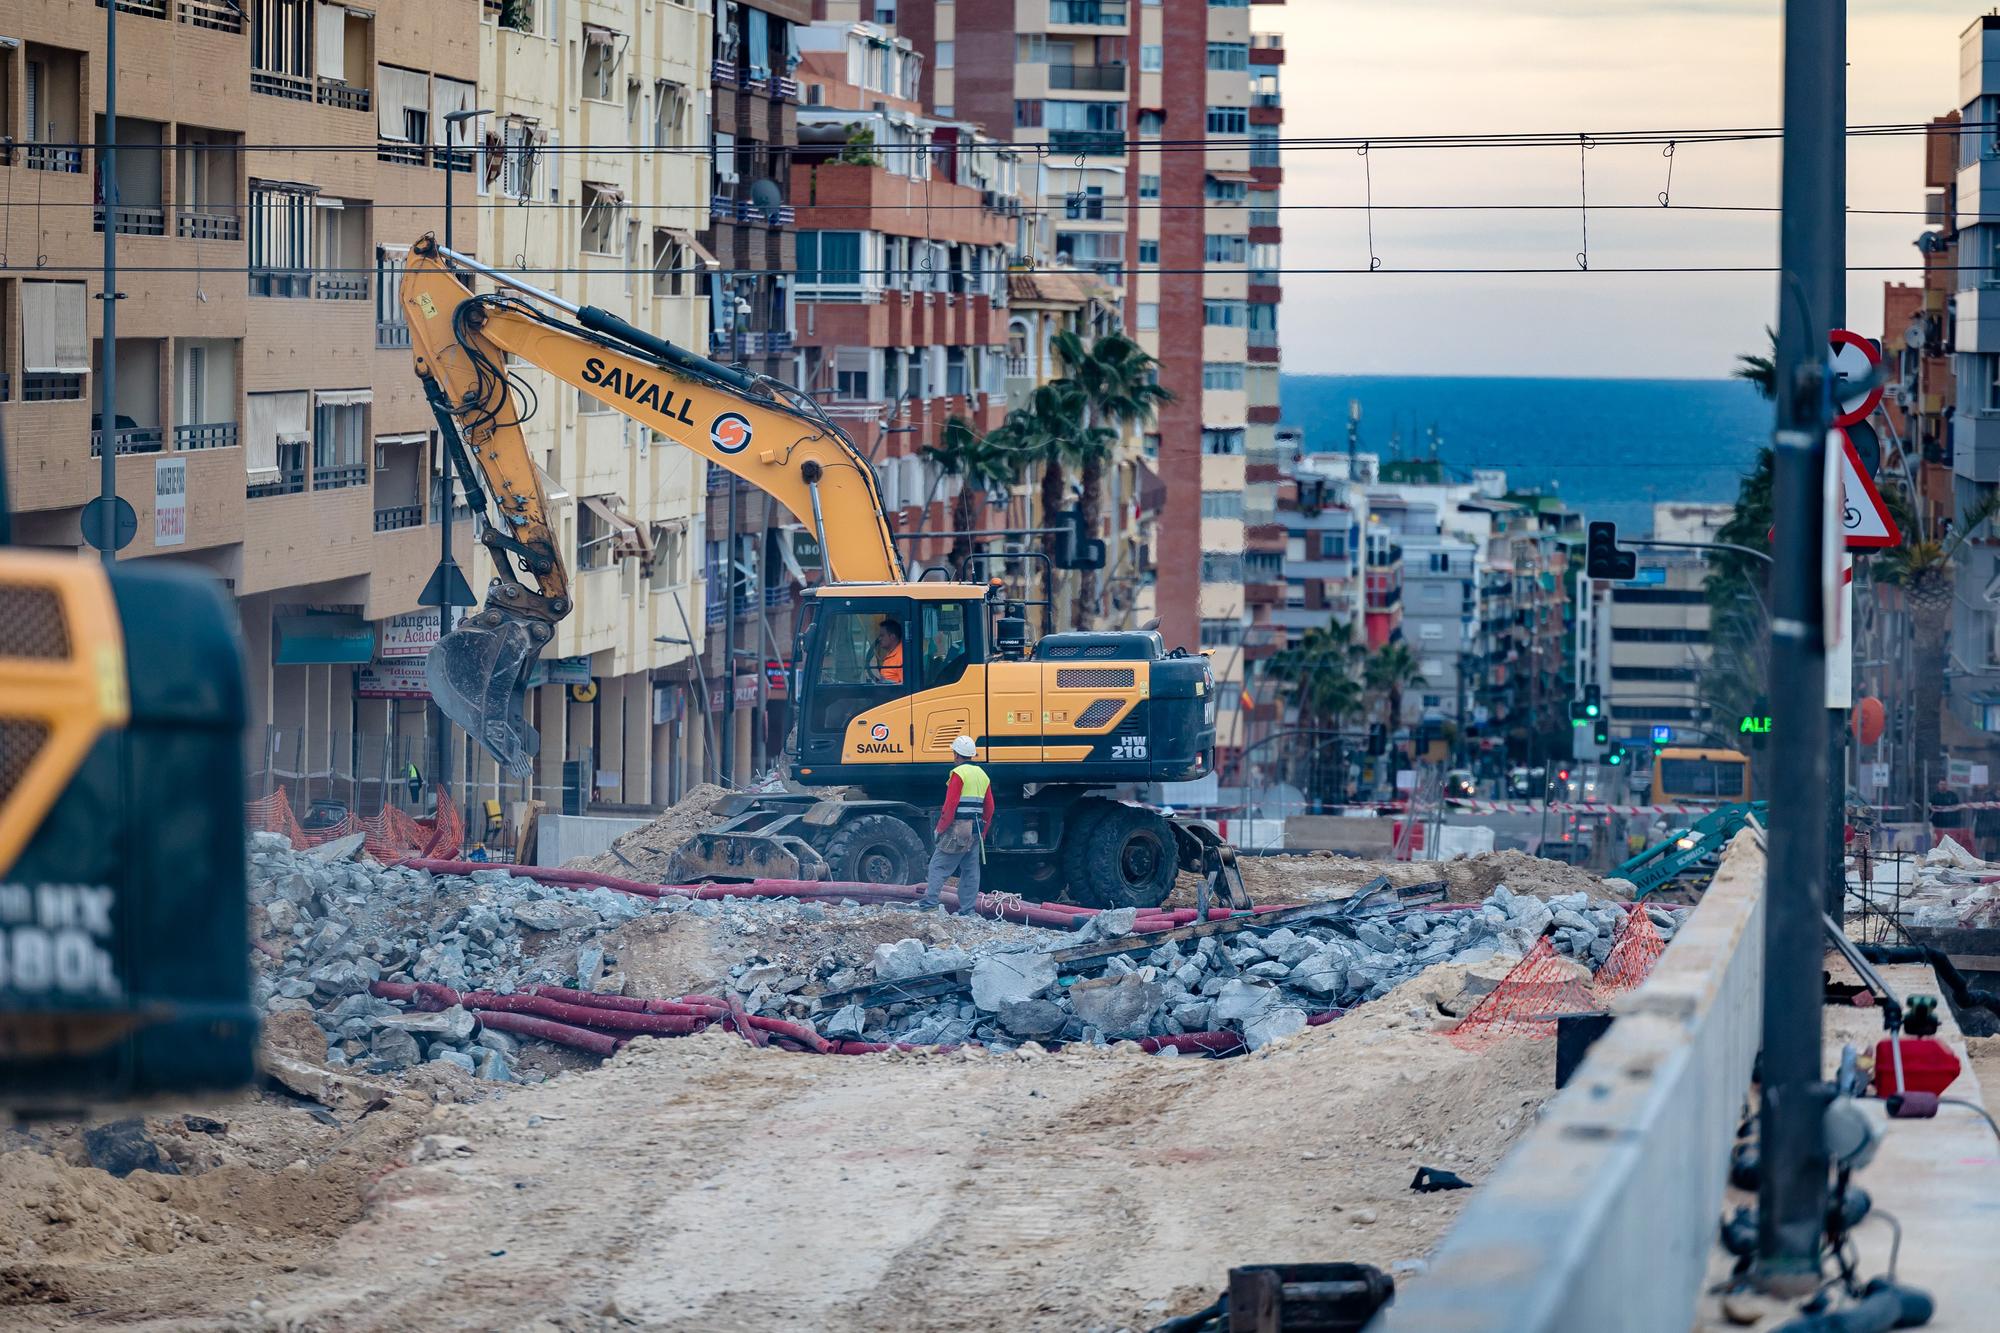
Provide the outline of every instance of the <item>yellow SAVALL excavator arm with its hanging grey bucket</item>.
[[[474,294],[470,274],[508,290]],[[540,737],[522,707],[528,673],[572,608],[510,358],[772,494],[818,534],[830,580],[904,578],[874,468],[812,398],[596,306],[564,302],[432,236],[410,248],[402,306],[416,374],[498,570],[478,612],[430,650],[426,677],[446,717],[502,767],[528,773],[534,765]]]

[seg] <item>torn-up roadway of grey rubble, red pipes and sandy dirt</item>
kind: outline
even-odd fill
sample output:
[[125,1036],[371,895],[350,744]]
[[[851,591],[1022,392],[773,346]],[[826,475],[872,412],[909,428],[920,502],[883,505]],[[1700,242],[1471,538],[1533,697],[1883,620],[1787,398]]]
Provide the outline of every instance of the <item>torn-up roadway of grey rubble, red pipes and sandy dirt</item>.
[[1412,1181],[1554,1093],[1534,1011],[1682,917],[1518,853],[1254,861],[1194,923],[368,839],[250,835],[254,1093],[6,1133],[0,1327],[1138,1329],[1246,1257],[1418,1281],[1468,1193]]

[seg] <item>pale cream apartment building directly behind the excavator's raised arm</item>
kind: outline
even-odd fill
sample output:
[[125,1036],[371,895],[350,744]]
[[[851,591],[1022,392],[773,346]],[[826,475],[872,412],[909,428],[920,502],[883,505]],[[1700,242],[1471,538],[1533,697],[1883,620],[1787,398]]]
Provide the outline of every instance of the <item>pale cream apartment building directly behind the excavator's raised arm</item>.
[[[682,346],[706,346],[714,258],[708,6],[594,0],[486,4],[478,32],[478,248],[576,304]],[[552,807],[646,807],[700,781],[706,464],[552,374],[516,364],[532,392],[528,446],[556,506],[574,610],[528,699],[542,733],[532,781],[480,753],[472,795]],[[474,588],[490,564],[480,556]]]

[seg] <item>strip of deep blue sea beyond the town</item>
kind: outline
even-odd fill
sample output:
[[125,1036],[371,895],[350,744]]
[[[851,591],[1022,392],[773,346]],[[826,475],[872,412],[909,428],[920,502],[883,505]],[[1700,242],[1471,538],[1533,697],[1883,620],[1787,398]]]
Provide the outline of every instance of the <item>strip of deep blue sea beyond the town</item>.
[[1280,394],[1306,452],[1346,452],[1360,404],[1360,452],[1504,468],[1510,486],[1632,534],[1652,530],[1658,500],[1734,500],[1772,430],[1744,380],[1286,374]]

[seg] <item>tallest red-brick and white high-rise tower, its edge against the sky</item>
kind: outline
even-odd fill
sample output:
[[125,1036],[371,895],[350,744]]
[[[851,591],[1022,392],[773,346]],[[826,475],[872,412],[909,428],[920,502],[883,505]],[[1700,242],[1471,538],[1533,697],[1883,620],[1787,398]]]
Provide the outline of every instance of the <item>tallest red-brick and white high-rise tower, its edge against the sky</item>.
[[[1046,154],[1034,190],[1056,262],[1110,282],[1128,332],[1160,358],[1174,394],[1152,430],[1162,528],[1200,532],[1200,546],[1156,550],[1142,596],[1168,642],[1212,640],[1236,687],[1218,697],[1240,697],[1246,658],[1274,650],[1286,540],[1274,438],[1280,40],[1250,30],[1248,0],[886,8],[926,56],[940,116]],[[1218,763],[1246,739],[1246,721],[1226,713]]]

